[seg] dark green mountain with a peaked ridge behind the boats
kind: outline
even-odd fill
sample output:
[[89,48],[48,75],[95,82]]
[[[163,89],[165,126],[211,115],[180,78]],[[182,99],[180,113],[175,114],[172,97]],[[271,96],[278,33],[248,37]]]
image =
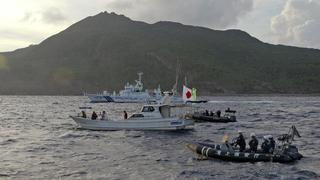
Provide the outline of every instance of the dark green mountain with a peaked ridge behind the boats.
[[[241,30],[115,13],[74,23],[38,45],[0,53],[1,94],[81,94],[122,89],[143,71],[147,88],[170,89],[177,60],[200,94],[319,93],[320,50],[261,42]],[[180,83],[181,86],[181,83]]]

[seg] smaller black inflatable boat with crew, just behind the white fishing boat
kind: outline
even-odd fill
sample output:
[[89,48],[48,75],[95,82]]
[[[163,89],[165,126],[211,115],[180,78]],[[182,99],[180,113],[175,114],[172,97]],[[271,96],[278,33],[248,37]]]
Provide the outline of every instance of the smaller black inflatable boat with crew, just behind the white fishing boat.
[[196,121],[206,121],[206,122],[215,122],[215,123],[228,123],[228,122],[236,122],[237,118],[235,115],[236,111],[227,109],[225,114],[221,116],[221,113],[217,111],[217,113],[208,113],[206,112],[195,112],[192,114],[192,118]]

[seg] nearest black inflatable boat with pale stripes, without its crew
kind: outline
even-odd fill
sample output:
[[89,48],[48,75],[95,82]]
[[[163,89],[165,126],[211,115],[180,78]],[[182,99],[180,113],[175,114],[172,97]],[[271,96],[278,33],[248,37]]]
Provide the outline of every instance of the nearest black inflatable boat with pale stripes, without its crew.
[[239,152],[238,150],[234,150],[230,144],[191,143],[187,144],[187,147],[204,157],[236,162],[264,161],[290,163],[302,158],[298,149],[290,144],[284,145],[281,148],[281,151],[274,152],[273,154],[266,154],[259,151],[256,153]]

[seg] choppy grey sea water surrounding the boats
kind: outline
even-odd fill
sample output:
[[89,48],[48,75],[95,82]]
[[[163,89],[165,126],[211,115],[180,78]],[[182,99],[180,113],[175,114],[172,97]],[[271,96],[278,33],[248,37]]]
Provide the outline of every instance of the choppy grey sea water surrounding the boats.
[[[89,131],[69,115],[90,106],[122,119],[142,104],[90,104],[81,96],[0,96],[0,179],[319,179],[320,97],[208,97],[183,110],[237,110],[235,123],[199,123],[192,131]],[[87,110],[88,115],[92,110]],[[176,111],[176,113],[183,113]],[[185,145],[287,133],[304,158],[290,164],[198,161]]]

